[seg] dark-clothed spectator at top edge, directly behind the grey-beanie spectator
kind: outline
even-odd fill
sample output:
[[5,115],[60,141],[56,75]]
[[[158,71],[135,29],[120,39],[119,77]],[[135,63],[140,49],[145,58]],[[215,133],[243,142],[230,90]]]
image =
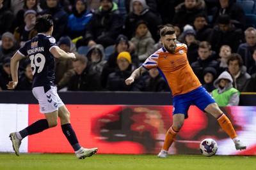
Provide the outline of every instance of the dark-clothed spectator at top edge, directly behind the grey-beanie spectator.
[[34,1],[24,0],[23,1],[24,4],[22,6],[22,9],[17,11],[16,17],[15,17],[15,28],[25,24],[24,14],[26,11],[34,10],[36,13],[39,13],[40,11],[42,11],[42,8],[39,5],[39,1],[40,0],[34,0]]

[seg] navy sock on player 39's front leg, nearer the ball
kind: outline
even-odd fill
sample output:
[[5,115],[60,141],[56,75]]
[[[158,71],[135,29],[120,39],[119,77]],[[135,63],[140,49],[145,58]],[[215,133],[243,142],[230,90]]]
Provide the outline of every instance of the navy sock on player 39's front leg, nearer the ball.
[[81,148],[81,146],[78,143],[78,140],[76,138],[76,133],[73,130],[71,124],[64,124],[61,125],[61,129],[63,134],[65,134],[66,138],[68,139],[68,142],[74,148],[74,151],[77,151]]

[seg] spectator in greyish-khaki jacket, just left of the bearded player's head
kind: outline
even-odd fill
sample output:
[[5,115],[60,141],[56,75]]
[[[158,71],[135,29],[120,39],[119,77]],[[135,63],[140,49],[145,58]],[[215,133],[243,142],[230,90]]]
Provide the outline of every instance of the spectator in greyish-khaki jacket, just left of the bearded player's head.
[[153,52],[155,41],[148,31],[148,24],[144,20],[139,20],[136,25],[136,34],[131,42],[135,45],[135,51],[141,63],[143,63]]

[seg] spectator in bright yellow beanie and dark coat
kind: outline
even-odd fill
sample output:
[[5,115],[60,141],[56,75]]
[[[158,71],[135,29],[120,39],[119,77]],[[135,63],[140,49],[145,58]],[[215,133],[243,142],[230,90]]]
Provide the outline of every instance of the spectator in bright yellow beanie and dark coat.
[[118,67],[114,73],[109,74],[106,90],[109,91],[143,91],[144,81],[139,78],[131,86],[125,84],[135,67],[129,52],[120,52],[116,59]]

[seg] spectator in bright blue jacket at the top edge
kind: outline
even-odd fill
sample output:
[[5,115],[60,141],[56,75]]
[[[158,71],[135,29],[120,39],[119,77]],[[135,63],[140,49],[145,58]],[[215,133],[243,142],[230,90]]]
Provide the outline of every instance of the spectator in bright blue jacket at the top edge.
[[68,17],[67,35],[71,39],[83,37],[92,16],[93,13],[88,10],[86,0],[76,0],[74,12]]

